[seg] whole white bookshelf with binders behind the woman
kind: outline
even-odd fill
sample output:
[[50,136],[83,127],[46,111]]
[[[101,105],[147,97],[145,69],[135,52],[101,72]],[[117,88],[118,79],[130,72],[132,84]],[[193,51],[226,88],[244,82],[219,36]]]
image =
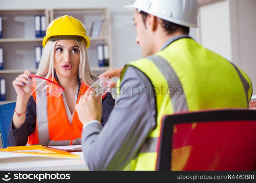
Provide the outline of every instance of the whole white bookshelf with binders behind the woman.
[[[92,22],[106,20],[105,36],[90,37],[91,45],[88,49],[88,57],[94,74],[101,74],[112,68],[110,12],[108,8],[0,9],[3,24],[3,38],[0,38],[0,47],[4,49],[4,70],[0,70],[0,78],[6,78],[6,101],[0,101],[0,105],[16,100],[17,94],[12,86],[12,81],[19,74],[22,74],[26,69],[33,73],[37,71],[34,49],[36,46],[42,45],[43,38],[36,38],[35,15],[45,15],[46,26],[59,16],[73,16],[84,23],[88,36],[90,36]],[[98,66],[96,50],[98,44],[109,45],[108,67]]]

